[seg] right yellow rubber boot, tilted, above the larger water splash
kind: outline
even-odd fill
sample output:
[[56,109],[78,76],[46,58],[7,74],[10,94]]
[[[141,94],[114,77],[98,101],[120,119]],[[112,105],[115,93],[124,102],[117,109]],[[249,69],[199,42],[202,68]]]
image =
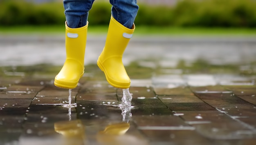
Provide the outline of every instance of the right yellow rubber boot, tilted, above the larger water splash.
[[122,56],[134,30],[135,25],[128,29],[111,16],[106,44],[97,65],[104,72],[108,83],[117,88],[130,87],[130,78],[124,68]]

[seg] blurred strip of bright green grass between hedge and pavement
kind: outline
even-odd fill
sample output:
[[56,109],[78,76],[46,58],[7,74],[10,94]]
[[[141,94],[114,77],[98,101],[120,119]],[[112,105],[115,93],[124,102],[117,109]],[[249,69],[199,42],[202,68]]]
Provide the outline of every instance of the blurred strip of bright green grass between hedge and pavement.
[[[106,34],[108,26],[89,26],[88,33]],[[0,27],[0,34],[63,34],[65,26],[21,26]],[[168,35],[168,36],[256,36],[256,28],[200,28],[200,27],[148,27],[137,26],[136,35]]]

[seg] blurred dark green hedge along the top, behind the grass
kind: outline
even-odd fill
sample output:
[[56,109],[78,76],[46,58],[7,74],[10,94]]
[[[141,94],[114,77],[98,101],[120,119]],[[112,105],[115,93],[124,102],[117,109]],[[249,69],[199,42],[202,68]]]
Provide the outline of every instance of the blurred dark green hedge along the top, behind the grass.
[[[139,2],[139,1],[138,1]],[[90,25],[108,25],[111,5],[95,2]],[[63,25],[62,3],[0,2],[0,25]],[[177,27],[256,27],[256,0],[180,0],[177,5],[139,4],[136,25]]]

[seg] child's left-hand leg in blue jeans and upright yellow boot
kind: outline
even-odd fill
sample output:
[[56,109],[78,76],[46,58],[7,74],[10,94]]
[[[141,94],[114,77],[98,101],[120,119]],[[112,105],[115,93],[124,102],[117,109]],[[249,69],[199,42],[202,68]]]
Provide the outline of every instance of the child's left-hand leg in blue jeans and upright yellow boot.
[[84,73],[88,11],[94,0],[64,0],[66,16],[66,60],[54,80],[54,85],[73,89]]

